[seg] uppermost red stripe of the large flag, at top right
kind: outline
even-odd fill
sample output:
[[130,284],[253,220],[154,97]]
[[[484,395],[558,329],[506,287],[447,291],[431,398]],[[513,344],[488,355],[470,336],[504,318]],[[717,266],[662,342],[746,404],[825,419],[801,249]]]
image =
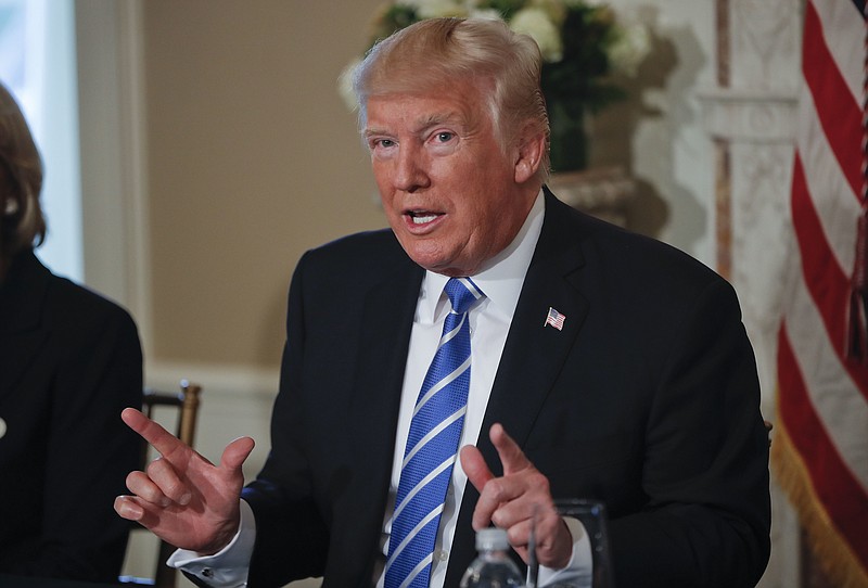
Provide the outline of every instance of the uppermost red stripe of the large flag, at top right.
[[[846,4],[843,4],[850,8]],[[830,11],[831,12],[831,11]],[[852,12],[852,11],[851,11]],[[852,18],[851,18],[852,20]],[[834,107],[818,107],[817,115],[822,125],[829,145],[835,154],[844,175],[847,178],[853,193],[859,194],[861,190],[861,133],[853,129],[861,128],[861,80],[856,85],[858,94],[852,92],[850,85],[839,69],[839,64],[832,59],[829,47],[825,42],[819,15],[813,2],[808,2],[805,10],[805,42],[802,51],[802,72],[810,89],[810,94],[816,104],[834,105]],[[865,31],[861,30],[861,36]],[[840,37],[835,31],[835,37]],[[861,39],[861,37],[857,37]],[[861,47],[861,43],[853,43]],[[861,73],[863,62],[856,61],[856,72]],[[852,95],[853,100],[846,100]]]

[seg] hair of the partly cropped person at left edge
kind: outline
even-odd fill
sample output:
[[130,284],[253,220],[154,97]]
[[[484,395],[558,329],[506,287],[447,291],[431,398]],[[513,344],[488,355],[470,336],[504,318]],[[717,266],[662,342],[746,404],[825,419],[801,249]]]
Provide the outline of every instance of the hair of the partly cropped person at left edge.
[[46,220],[39,205],[42,158],[17,102],[0,84],[0,269],[22,250],[39,246]]

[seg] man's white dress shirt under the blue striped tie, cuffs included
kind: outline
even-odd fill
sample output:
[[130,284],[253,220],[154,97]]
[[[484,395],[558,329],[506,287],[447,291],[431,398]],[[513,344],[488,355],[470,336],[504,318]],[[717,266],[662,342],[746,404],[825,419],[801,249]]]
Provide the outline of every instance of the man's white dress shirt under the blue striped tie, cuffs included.
[[[519,303],[524,278],[539,239],[544,216],[545,201],[540,192],[527,215],[527,219],[512,243],[490,259],[482,271],[472,277],[473,282],[485,293],[485,298],[471,308],[469,315],[471,378],[468,410],[464,416],[459,447],[475,445],[482,433],[482,421],[488,405],[488,396],[492,392],[507,334],[515,312],[515,306]],[[404,449],[410,430],[413,407],[431,359],[436,353],[443,331],[443,322],[450,308],[449,299],[443,291],[448,279],[447,276],[427,271],[419,292],[398,413],[392,481],[388,491],[390,499],[384,513],[381,540],[383,557],[378,562],[379,565],[375,572],[378,588],[382,588],[385,576],[383,567],[388,553],[392,511],[400,480],[400,464],[404,459]],[[432,588],[441,588],[446,579],[449,551],[452,546],[465,484],[467,474],[461,468],[460,460],[456,461],[435,542],[430,584]],[[239,536],[220,553],[208,558],[199,558],[193,552],[178,550],[171,555],[168,564],[195,574],[213,586],[245,586],[247,566],[253,553],[255,521],[250,507],[243,500],[242,507],[242,528],[239,532]],[[590,547],[582,524],[577,521],[569,521],[569,525],[574,540],[576,540],[573,561],[563,571],[556,572],[540,568],[540,586],[545,586],[547,581],[553,581],[554,579],[566,579],[567,576],[575,577],[574,573],[577,574],[583,568],[589,568]]]

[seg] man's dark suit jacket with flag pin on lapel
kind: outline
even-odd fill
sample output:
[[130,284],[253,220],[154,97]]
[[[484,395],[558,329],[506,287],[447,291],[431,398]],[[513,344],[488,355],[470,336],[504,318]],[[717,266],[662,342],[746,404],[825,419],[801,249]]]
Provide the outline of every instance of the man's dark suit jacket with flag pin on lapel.
[[[308,252],[290,290],[268,461],[246,490],[250,586],[369,586],[423,270],[390,231]],[[544,327],[549,307],[566,319]],[[559,497],[600,498],[617,585],[753,586],[769,555],[768,448],[730,285],[699,261],[546,195],[492,389],[495,422]],[[461,506],[446,584],[474,557]]]

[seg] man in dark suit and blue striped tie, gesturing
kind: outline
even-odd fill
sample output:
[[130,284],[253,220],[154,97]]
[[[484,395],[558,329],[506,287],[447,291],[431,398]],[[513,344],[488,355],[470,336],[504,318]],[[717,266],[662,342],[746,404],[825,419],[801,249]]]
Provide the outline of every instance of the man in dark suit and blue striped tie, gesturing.
[[[171,562],[203,584],[342,587],[457,586],[473,528],[492,524],[527,562],[536,513],[545,585],[592,565],[554,498],[597,498],[620,586],[755,585],[767,440],[729,284],[542,188],[539,52],[502,23],[412,25],[368,55],[355,88],[392,230],[299,261],[264,470],[242,494],[251,439],[210,466],[126,411],[164,457],[130,476],[118,513],[189,550]],[[458,327],[439,338],[444,324]],[[455,379],[429,388],[431,357],[463,336]],[[464,396],[417,444],[419,416],[468,362]],[[405,488],[455,423],[460,460],[432,458]],[[441,476],[439,504],[405,523]]]

